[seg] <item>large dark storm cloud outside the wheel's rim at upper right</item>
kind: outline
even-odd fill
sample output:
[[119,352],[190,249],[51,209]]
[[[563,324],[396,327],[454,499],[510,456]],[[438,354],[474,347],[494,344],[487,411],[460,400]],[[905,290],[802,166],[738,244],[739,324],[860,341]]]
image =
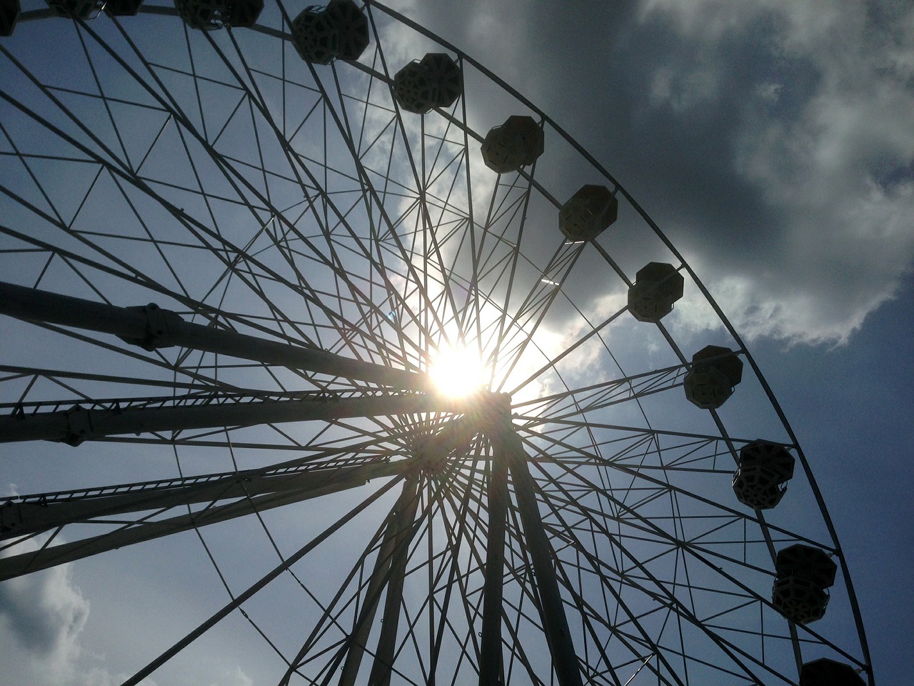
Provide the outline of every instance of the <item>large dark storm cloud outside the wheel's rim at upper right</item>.
[[628,188],[738,327],[840,342],[914,256],[909,5],[409,6]]

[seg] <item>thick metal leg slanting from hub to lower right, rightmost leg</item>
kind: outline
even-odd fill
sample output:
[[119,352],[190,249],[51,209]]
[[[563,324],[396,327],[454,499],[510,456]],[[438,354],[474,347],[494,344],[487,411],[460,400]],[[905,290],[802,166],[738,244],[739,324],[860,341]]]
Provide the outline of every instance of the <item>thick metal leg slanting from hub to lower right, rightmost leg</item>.
[[508,464],[514,483],[517,509],[524,525],[527,551],[533,563],[534,579],[539,596],[540,621],[546,631],[552,669],[559,686],[582,686],[578,657],[571,640],[565,604],[558,590],[558,577],[553,566],[554,552],[549,545],[543,520],[539,513],[533,477],[527,466],[526,452],[520,436],[511,423],[510,409],[501,421],[494,419],[488,431],[494,456]]

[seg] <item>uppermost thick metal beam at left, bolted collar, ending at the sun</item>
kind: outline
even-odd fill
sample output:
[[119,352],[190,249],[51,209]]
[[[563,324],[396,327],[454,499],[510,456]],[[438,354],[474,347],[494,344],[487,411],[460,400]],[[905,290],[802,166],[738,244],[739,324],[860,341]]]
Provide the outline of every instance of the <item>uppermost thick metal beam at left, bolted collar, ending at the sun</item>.
[[113,334],[147,350],[181,346],[293,370],[369,381],[400,390],[431,389],[425,374],[344,358],[325,350],[301,348],[228,329],[192,324],[175,312],[152,303],[119,307],[0,282],[0,314]]

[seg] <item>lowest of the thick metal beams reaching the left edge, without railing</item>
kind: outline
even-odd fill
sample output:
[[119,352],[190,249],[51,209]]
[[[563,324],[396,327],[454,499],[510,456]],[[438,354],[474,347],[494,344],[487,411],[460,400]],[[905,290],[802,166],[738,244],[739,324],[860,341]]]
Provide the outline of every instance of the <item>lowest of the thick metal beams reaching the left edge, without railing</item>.
[[390,477],[404,474],[415,468],[414,460],[377,463],[341,469],[328,469],[318,474],[307,475],[297,488],[266,493],[254,498],[242,498],[226,505],[216,505],[197,512],[179,515],[166,520],[139,521],[135,525],[117,529],[81,541],[71,541],[60,545],[49,546],[35,552],[23,552],[18,555],[0,558],[0,581],[22,574],[37,572],[58,564],[73,562],[84,557],[97,555],[125,545],[142,541],[151,541],[163,536],[170,536],[181,531],[189,531],[207,524],[215,524],[262,512],[265,509],[280,507],[293,502],[317,498],[329,493],[337,493],[348,488],[364,486],[377,477]]

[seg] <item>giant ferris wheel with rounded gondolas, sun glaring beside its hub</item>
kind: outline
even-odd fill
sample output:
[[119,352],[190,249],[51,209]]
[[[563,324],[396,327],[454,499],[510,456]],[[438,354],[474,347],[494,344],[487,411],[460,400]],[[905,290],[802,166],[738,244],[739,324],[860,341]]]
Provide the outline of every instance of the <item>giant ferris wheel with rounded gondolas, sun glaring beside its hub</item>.
[[873,684],[755,361],[534,103],[374,0],[0,7],[0,579],[170,597],[125,683]]

